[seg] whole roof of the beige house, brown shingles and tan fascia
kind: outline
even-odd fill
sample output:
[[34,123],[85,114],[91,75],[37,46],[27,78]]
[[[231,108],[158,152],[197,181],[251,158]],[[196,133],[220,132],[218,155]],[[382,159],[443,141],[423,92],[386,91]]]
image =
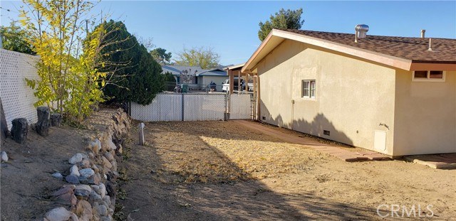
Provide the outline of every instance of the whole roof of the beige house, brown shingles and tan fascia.
[[273,29],[261,43],[242,72],[252,72],[257,63],[286,39],[316,45],[403,70],[456,70],[456,39],[371,36],[358,38],[348,33]]

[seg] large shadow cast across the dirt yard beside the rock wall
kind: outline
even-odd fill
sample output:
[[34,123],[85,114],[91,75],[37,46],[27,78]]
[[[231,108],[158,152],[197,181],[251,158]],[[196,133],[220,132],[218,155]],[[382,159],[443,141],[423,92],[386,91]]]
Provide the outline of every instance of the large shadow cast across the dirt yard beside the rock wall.
[[[138,138],[134,138],[127,148],[131,157],[121,165],[131,179],[122,186],[127,194],[120,202],[125,215],[134,220],[375,220],[372,208],[320,198],[312,192],[274,192],[202,141],[199,136],[207,134],[190,126],[194,122],[184,123],[180,128],[147,124],[147,146],[136,145]],[[215,136],[227,136],[220,130]],[[193,143],[166,146],[159,139],[164,139],[160,133],[167,131],[178,131]],[[169,139],[172,142],[173,138]],[[198,149],[204,151],[187,152]],[[193,164],[179,169],[180,161]],[[213,163],[218,167],[212,168]],[[198,169],[201,165],[204,167]]]

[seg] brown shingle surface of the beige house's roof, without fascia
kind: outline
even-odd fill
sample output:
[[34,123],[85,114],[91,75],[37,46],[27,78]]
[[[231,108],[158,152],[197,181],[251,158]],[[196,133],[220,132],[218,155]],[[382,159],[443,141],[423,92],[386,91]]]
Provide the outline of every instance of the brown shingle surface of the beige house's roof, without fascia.
[[412,60],[413,63],[456,63],[456,39],[432,38],[432,51],[429,51],[427,50],[429,38],[367,35],[366,38],[358,39],[358,43],[355,43],[354,33],[282,30]]

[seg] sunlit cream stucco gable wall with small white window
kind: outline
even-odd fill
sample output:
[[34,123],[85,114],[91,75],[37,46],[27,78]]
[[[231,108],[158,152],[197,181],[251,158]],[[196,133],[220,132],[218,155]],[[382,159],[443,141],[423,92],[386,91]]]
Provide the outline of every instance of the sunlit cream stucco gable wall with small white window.
[[[290,40],[257,68],[264,122],[365,149],[375,130],[385,131],[378,151],[393,153],[395,70]],[[302,80],[313,79],[316,99],[301,97]]]

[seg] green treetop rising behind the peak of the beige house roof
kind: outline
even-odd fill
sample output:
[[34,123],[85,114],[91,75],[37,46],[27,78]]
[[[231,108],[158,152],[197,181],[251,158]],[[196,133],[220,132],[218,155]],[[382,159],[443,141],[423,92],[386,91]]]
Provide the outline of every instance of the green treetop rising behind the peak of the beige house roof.
[[286,10],[280,9],[275,15],[271,15],[269,21],[259,22],[258,38],[264,41],[272,28],[289,28],[299,29],[304,24],[304,19],[301,20],[302,9]]

